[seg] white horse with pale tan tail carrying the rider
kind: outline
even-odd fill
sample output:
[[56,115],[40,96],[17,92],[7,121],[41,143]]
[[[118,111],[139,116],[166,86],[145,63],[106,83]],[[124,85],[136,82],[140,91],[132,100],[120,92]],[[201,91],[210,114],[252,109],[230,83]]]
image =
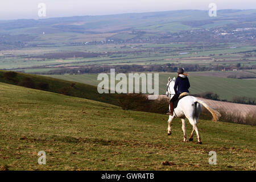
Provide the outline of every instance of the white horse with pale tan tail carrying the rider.
[[[170,99],[172,97],[174,97],[175,91],[174,91],[174,84],[175,84],[175,77],[168,78],[168,84],[167,84],[167,91],[166,91],[166,95],[168,97],[170,97]],[[169,119],[168,119],[168,135],[171,135],[171,123],[172,120],[177,117],[177,118],[181,118],[181,122],[182,122],[182,130],[184,133],[184,142],[187,142],[187,135],[186,135],[186,127],[185,127],[185,118],[188,118],[189,123],[191,123],[191,125],[193,126],[193,130],[191,133],[191,136],[189,137],[189,141],[193,140],[193,134],[194,131],[196,131],[196,135],[197,135],[197,141],[199,144],[202,144],[201,142],[201,138],[199,135],[199,131],[197,129],[197,122],[199,119],[199,115],[201,113],[201,109],[202,109],[202,105],[210,111],[210,113],[212,114],[213,118],[212,121],[218,121],[218,118],[221,116],[221,114],[210,108],[210,106],[208,106],[207,104],[205,104],[204,101],[199,100],[196,97],[193,96],[185,96],[183,98],[181,98],[181,100],[178,102],[177,107],[174,109],[174,114],[169,115]],[[169,105],[169,109],[170,109],[170,105]]]

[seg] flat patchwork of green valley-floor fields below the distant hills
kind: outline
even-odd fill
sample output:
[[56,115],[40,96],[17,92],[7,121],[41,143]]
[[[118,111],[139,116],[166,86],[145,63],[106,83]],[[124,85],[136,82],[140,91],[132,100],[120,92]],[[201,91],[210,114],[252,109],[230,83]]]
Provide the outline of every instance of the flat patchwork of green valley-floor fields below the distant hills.
[[[222,65],[240,63],[243,66],[255,65],[256,57],[246,58],[243,51],[253,51],[254,46],[242,46],[237,44],[222,44],[208,46],[202,49],[201,44],[125,44],[123,45],[97,45],[97,46],[59,46],[48,48],[27,48],[10,51],[0,51],[0,69],[16,69],[16,71],[47,72],[60,67],[82,67],[89,65],[122,65],[122,64],[199,64],[209,67],[210,65]],[[230,48],[236,47],[236,48]],[[71,53],[65,59],[27,58],[39,56],[40,53],[59,52],[109,52],[110,55],[97,57],[75,57]],[[185,55],[179,55],[187,52]]]

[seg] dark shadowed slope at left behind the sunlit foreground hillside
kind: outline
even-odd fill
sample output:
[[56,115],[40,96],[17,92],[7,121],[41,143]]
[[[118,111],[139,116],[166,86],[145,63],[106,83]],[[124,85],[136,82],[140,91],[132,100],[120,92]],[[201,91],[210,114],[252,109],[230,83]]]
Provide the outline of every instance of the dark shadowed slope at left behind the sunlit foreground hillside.
[[114,105],[118,104],[116,94],[99,94],[96,86],[26,73],[16,73],[16,76],[13,72],[13,75],[9,73],[10,72],[0,71],[0,82],[61,93],[68,96],[88,98],[90,100],[102,101]]

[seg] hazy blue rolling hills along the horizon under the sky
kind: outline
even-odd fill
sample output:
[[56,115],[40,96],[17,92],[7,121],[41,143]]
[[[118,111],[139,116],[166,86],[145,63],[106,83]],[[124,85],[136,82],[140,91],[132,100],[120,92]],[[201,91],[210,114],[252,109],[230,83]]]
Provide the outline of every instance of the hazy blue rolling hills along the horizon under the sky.
[[[38,46],[65,45],[69,42],[105,39],[127,40],[146,31],[143,38],[158,36],[159,32],[179,32],[199,28],[255,27],[256,10],[218,10],[210,17],[205,10],[176,10],[151,13],[129,13],[101,16],[72,16],[49,19],[18,19],[0,21],[0,43],[31,42]],[[101,39],[94,37],[101,35]],[[17,36],[22,35],[22,36]],[[93,38],[90,39],[86,35]],[[15,38],[15,40],[14,40]],[[55,40],[58,40],[57,42]],[[38,42],[39,41],[39,42]]]

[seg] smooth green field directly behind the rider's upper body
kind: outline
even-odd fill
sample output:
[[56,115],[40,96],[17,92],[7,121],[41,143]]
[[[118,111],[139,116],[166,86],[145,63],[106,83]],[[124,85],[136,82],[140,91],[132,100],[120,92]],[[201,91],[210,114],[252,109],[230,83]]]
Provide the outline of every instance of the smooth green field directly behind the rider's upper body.
[[[47,75],[61,80],[76,81],[84,84],[97,86],[96,74],[82,75]],[[159,94],[166,93],[166,84],[168,77],[176,77],[176,73],[159,73]],[[231,101],[234,96],[255,97],[256,82],[254,80],[241,80],[235,78],[221,78],[209,76],[189,76],[192,94],[203,92],[213,92],[218,94],[222,100]]]

